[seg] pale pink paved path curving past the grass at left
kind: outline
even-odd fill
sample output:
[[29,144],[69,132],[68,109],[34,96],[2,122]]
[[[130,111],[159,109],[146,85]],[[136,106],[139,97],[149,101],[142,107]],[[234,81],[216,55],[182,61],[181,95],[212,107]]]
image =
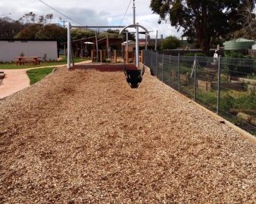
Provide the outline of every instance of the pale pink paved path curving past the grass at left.
[[[83,61],[80,63],[91,63],[91,60]],[[17,70],[0,70],[0,72],[5,73],[5,78],[2,80],[0,84],[0,99],[7,97],[11,94],[14,94],[17,91],[22,90],[23,88],[27,88],[30,86],[30,79],[27,76],[27,70],[44,68],[42,67],[35,67],[35,68],[28,68],[28,69],[17,69]],[[52,67],[52,66],[50,66]]]

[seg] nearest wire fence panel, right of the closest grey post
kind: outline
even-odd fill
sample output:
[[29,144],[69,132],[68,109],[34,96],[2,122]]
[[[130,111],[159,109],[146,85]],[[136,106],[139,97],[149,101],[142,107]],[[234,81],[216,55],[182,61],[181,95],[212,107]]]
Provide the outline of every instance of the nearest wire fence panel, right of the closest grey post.
[[220,115],[255,134],[255,60],[223,57],[220,70]]

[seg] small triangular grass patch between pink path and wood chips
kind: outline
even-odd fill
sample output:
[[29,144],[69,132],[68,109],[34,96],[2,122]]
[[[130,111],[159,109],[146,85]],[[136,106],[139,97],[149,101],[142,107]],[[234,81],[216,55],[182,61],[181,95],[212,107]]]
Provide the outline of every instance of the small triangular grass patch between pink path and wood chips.
[[34,83],[39,82],[49,73],[52,73],[52,70],[54,69],[55,67],[47,67],[47,68],[27,70],[27,76],[29,76],[30,78],[30,85],[33,85]]

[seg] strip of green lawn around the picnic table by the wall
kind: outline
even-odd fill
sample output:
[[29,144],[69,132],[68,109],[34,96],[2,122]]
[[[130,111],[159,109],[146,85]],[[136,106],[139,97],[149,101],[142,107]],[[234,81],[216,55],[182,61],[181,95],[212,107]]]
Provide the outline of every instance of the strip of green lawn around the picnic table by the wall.
[[[91,58],[80,58],[76,57],[73,59],[75,63],[83,62],[85,60],[91,60]],[[72,60],[71,60],[72,63]],[[26,63],[25,65],[16,65],[16,63],[0,63],[0,70],[13,70],[13,69],[27,69],[27,68],[33,68],[33,67],[41,67],[41,66],[60,66],[60,65],[66,65],[67,64],[67,58],[62,58],[58,61],[52,61],[52,62],[42,62],[38,65],[33,65],[33,63]]]

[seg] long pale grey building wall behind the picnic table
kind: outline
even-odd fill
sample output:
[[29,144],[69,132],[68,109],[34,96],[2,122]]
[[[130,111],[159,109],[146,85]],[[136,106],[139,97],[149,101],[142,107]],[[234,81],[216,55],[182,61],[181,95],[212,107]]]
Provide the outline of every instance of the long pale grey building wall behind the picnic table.
[[0,61],[11,62],[20,56],[44,57],[46,60],[57,60],[57,42],[54,41],[0,41]]

